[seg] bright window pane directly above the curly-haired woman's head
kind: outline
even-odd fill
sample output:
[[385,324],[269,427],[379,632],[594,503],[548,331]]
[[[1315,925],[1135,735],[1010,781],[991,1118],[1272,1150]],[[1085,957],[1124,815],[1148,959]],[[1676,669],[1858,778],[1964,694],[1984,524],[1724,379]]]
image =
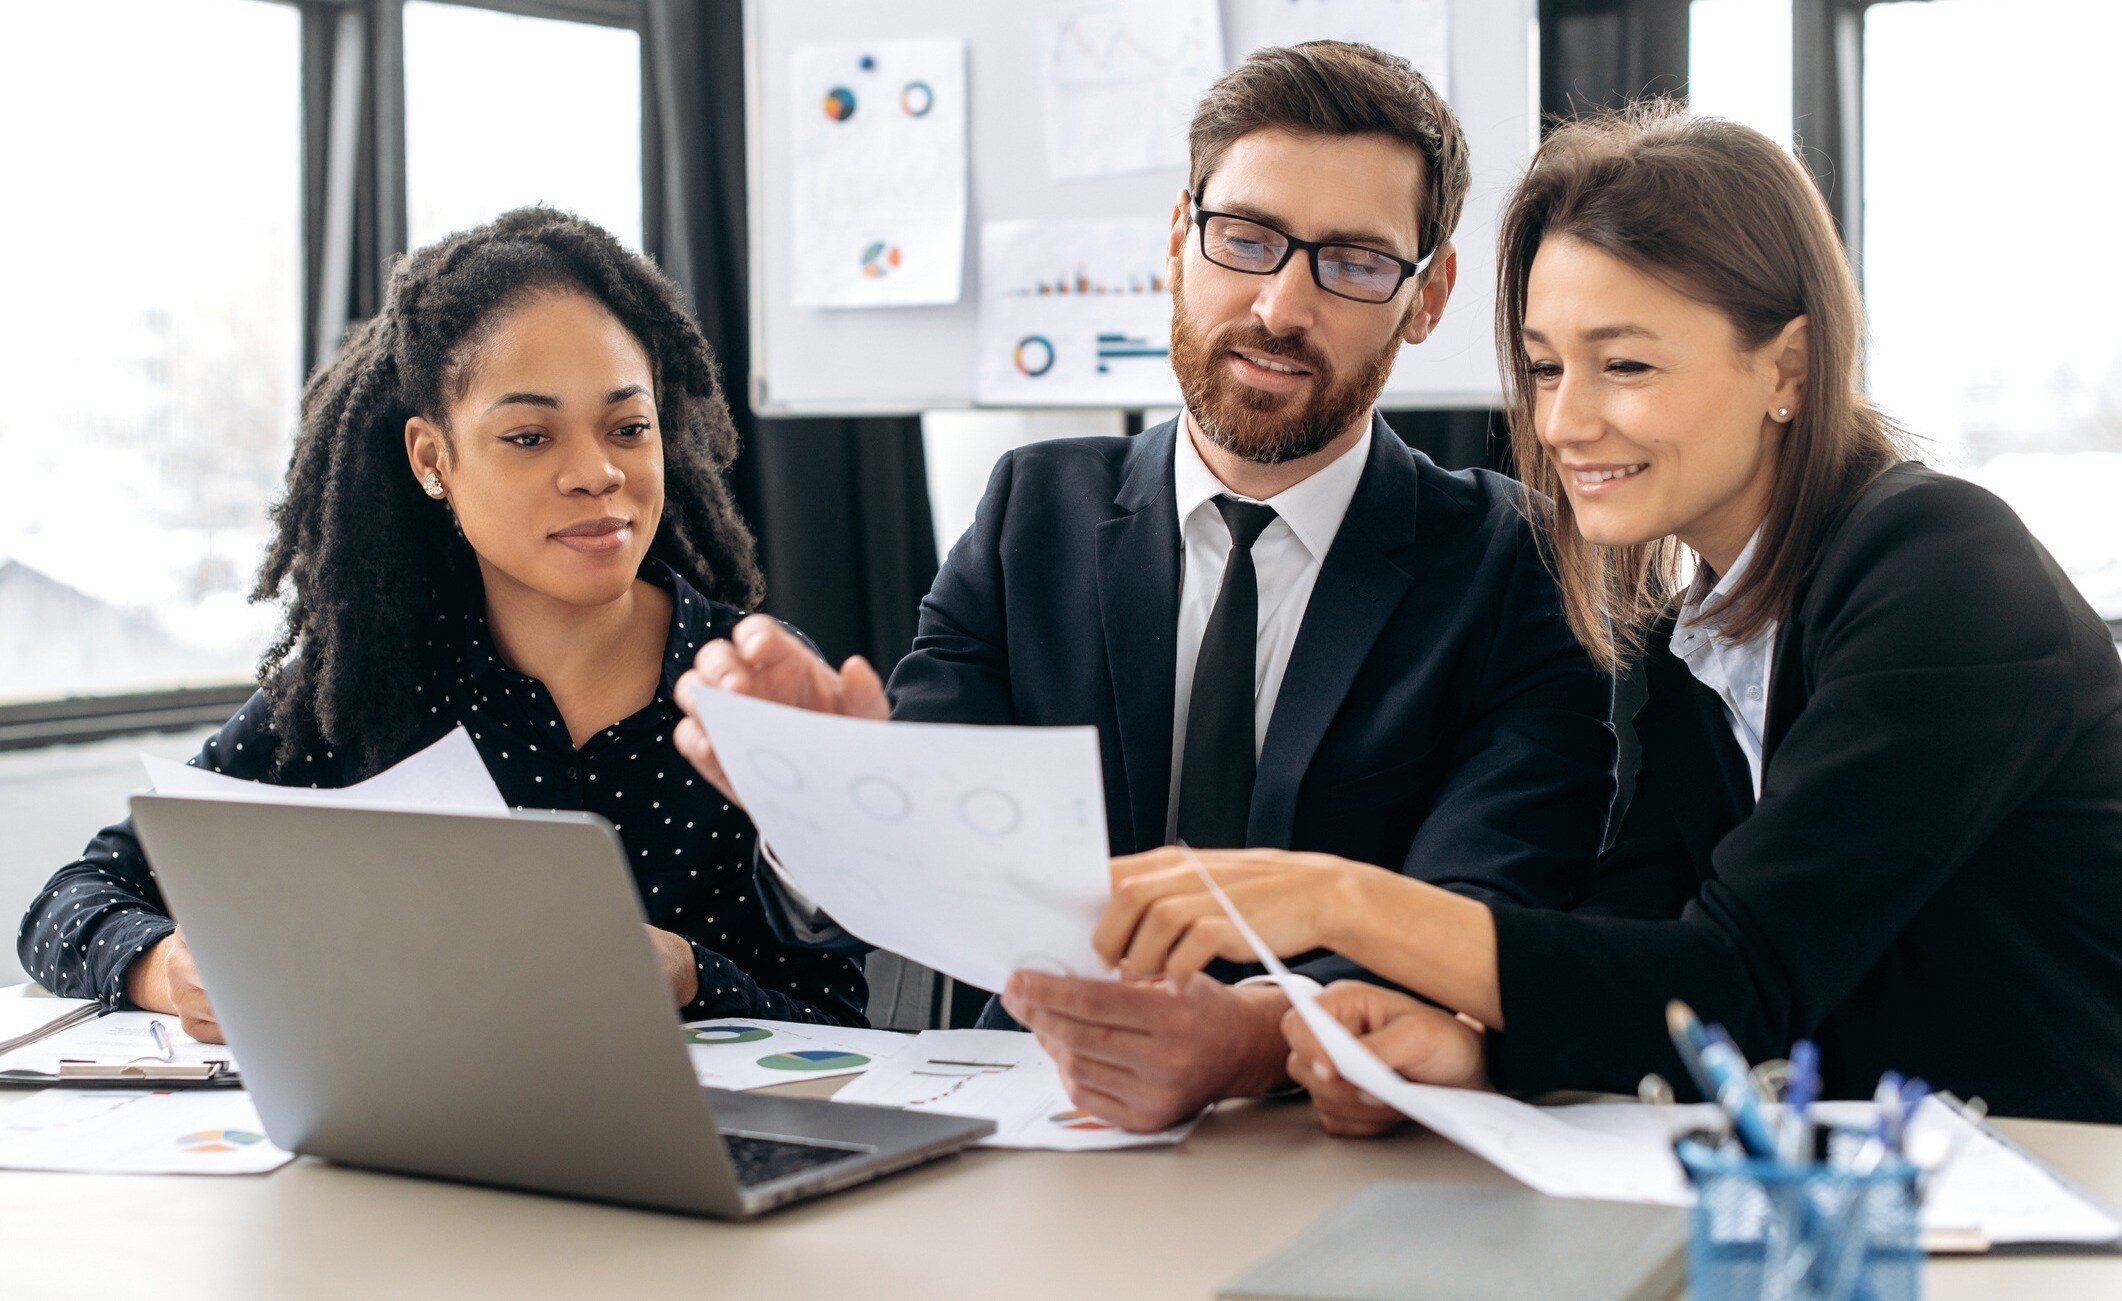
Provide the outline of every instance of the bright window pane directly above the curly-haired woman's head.
[[412,0],[412,246],[539,202],[641,248],[641,36]]

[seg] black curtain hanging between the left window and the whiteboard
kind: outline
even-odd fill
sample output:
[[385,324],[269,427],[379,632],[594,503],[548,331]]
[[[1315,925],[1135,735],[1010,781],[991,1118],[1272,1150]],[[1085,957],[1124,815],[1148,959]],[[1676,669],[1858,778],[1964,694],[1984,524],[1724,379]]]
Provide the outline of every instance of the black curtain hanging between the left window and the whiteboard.
[[743,8],[645,0],[643,19],[645,242],[721,363],[745,441],[732,488],[760,535],[766,609],[830,658],[862,654],[889,673],[936,579],[921,420],[753,414]]

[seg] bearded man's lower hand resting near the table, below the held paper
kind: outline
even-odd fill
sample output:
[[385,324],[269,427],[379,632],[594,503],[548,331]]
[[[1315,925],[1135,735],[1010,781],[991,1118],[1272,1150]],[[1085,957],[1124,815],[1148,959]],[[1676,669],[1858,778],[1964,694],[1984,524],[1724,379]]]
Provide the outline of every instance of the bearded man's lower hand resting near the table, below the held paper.
[[1271,985],[1195,976],[1173,989],[1016,972],[1002,1006],[1061,1068],[1069,1101],[1137,1133],[1282,1085],[1288,1000]]

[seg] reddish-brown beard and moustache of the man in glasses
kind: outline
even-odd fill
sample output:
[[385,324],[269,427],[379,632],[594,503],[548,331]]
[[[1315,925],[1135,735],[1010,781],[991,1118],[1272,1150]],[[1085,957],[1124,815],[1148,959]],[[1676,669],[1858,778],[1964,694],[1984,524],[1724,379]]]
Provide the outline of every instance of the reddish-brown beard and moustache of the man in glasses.
[[[1280,465],[1309,456],[1341,437],[1364,416],[1392,374],[1401,350],[1398,331],[1377,357],[1367,359],[1345,378],[1337,378],[1326,357],[1305,335],[1277,337],[1248,316],[1241,325],[1203,337],[1186,316],[1180,278],[1171,278],[1171,369],[1186,395],[1201,433],[1233,456],[1258,465]],[[1303,397],[1265,393],[1231,374],[1224,354],[1250,348],[1277,361],[1311,371],[1311,391]]]

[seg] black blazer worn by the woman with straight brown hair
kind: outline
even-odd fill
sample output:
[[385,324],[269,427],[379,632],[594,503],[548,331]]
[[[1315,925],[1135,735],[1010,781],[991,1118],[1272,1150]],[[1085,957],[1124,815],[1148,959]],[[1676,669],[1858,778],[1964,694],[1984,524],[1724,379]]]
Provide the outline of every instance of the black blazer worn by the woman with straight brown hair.
[[1572,915],[1496,908],[1504,1089],[1685,1089],[1664,1004],[2014,1116],[2122,1121],[2122,660],[1999,499],[1908,463],[1831,526],[1753,800],[1719,698],[1645,656],[1642,770]]

